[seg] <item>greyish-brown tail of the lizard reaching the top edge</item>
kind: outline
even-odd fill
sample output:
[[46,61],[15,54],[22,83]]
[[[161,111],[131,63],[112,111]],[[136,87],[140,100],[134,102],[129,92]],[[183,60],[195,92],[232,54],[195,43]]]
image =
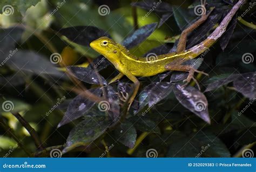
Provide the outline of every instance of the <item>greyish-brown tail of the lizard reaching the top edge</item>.
[[[239,0],[233,8],[228,12],[225,18],[221,21],[219,26],[208,36],[203,42],[191,47],[188,51],[191,51],[193,54],[201,54],[204,51],[208,50],[210,46],[212,46],[217,40],[223,35],[223,33],[227,29],[227,25],[230,23],[231,19],[235,15],[235,13],[239,10],[240,6],[245,3],[246,0]],[[197,57],[193,56],[190,59]]]

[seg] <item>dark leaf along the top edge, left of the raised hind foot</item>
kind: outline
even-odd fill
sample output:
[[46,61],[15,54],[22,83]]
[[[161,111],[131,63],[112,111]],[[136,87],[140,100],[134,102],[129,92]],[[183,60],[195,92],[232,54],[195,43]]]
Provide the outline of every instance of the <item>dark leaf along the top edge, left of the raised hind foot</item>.
[[171,12],[172,11],[172,7],[168,3],[159,2],[159,1],[146,0],[146,1],[133,2],[133,3],[131,3],[131,5],[138,6],[145,10],[154,10],[154,11],[158,11],[158,12]]

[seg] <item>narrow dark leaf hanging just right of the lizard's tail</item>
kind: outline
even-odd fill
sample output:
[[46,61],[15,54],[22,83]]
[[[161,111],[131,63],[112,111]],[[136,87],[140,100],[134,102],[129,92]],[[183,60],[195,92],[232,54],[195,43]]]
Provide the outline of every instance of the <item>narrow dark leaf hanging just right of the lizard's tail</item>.
[[228,24],[226,32],[219,40],[220,47],[223,51],[226,49],[228,42],[230,42],[235,26],[237,26],[237,14],[232,18],[230,24]]

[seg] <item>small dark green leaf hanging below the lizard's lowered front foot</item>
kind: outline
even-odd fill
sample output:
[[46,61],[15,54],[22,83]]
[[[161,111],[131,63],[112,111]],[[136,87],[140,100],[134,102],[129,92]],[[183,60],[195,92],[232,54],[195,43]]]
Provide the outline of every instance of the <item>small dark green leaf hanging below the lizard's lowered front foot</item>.
[[125,121],[114,130],[114,138],[129,148],[134,147],[136,137],[136,129],[131,122]]

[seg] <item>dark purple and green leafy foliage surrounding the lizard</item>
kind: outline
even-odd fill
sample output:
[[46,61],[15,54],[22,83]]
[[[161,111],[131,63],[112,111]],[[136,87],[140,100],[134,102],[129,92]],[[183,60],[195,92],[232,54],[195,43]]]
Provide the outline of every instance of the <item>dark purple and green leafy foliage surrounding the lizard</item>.
[[[207,3],[207,10],[215,10],[188,37],[188,47],[204,40],[235,1]],[[241,157],[247,149],[253,156],[256,5],[242,17],[254,29],[237,19],[252,3],[242,6],[223,38],[197,62],[210,75],[197,75],[201,91],[194,82],[186,88],[198,99],[184,97],[179,89],[185,73],[139,78],[140,93],[124,119],[127,103],[116,93],[131,93],[131,82],[124,77],[107,86],[118,72],[89,43],[111,36],[137,56],[175,51],[181,31],[200,17],[194,13],[199,1],[164,1],[148,17],[153,1],[1,1],[0,9],[11,5],[12,11],[0,15],[0,156]],[[100,5],[109,7],[107,15],[100,15]],[[53,53],[61,59],[58,64],[51,63]],[[252,55],[249,63],[246,53]],[[66,66],[75,77],[68,77]],[[82,88],[98,97],[105,92],[109,111],[77,95]],[[194,111],[197,100],[203,101],[203,111]],[[11,111],[3,108],[6,101]]]

